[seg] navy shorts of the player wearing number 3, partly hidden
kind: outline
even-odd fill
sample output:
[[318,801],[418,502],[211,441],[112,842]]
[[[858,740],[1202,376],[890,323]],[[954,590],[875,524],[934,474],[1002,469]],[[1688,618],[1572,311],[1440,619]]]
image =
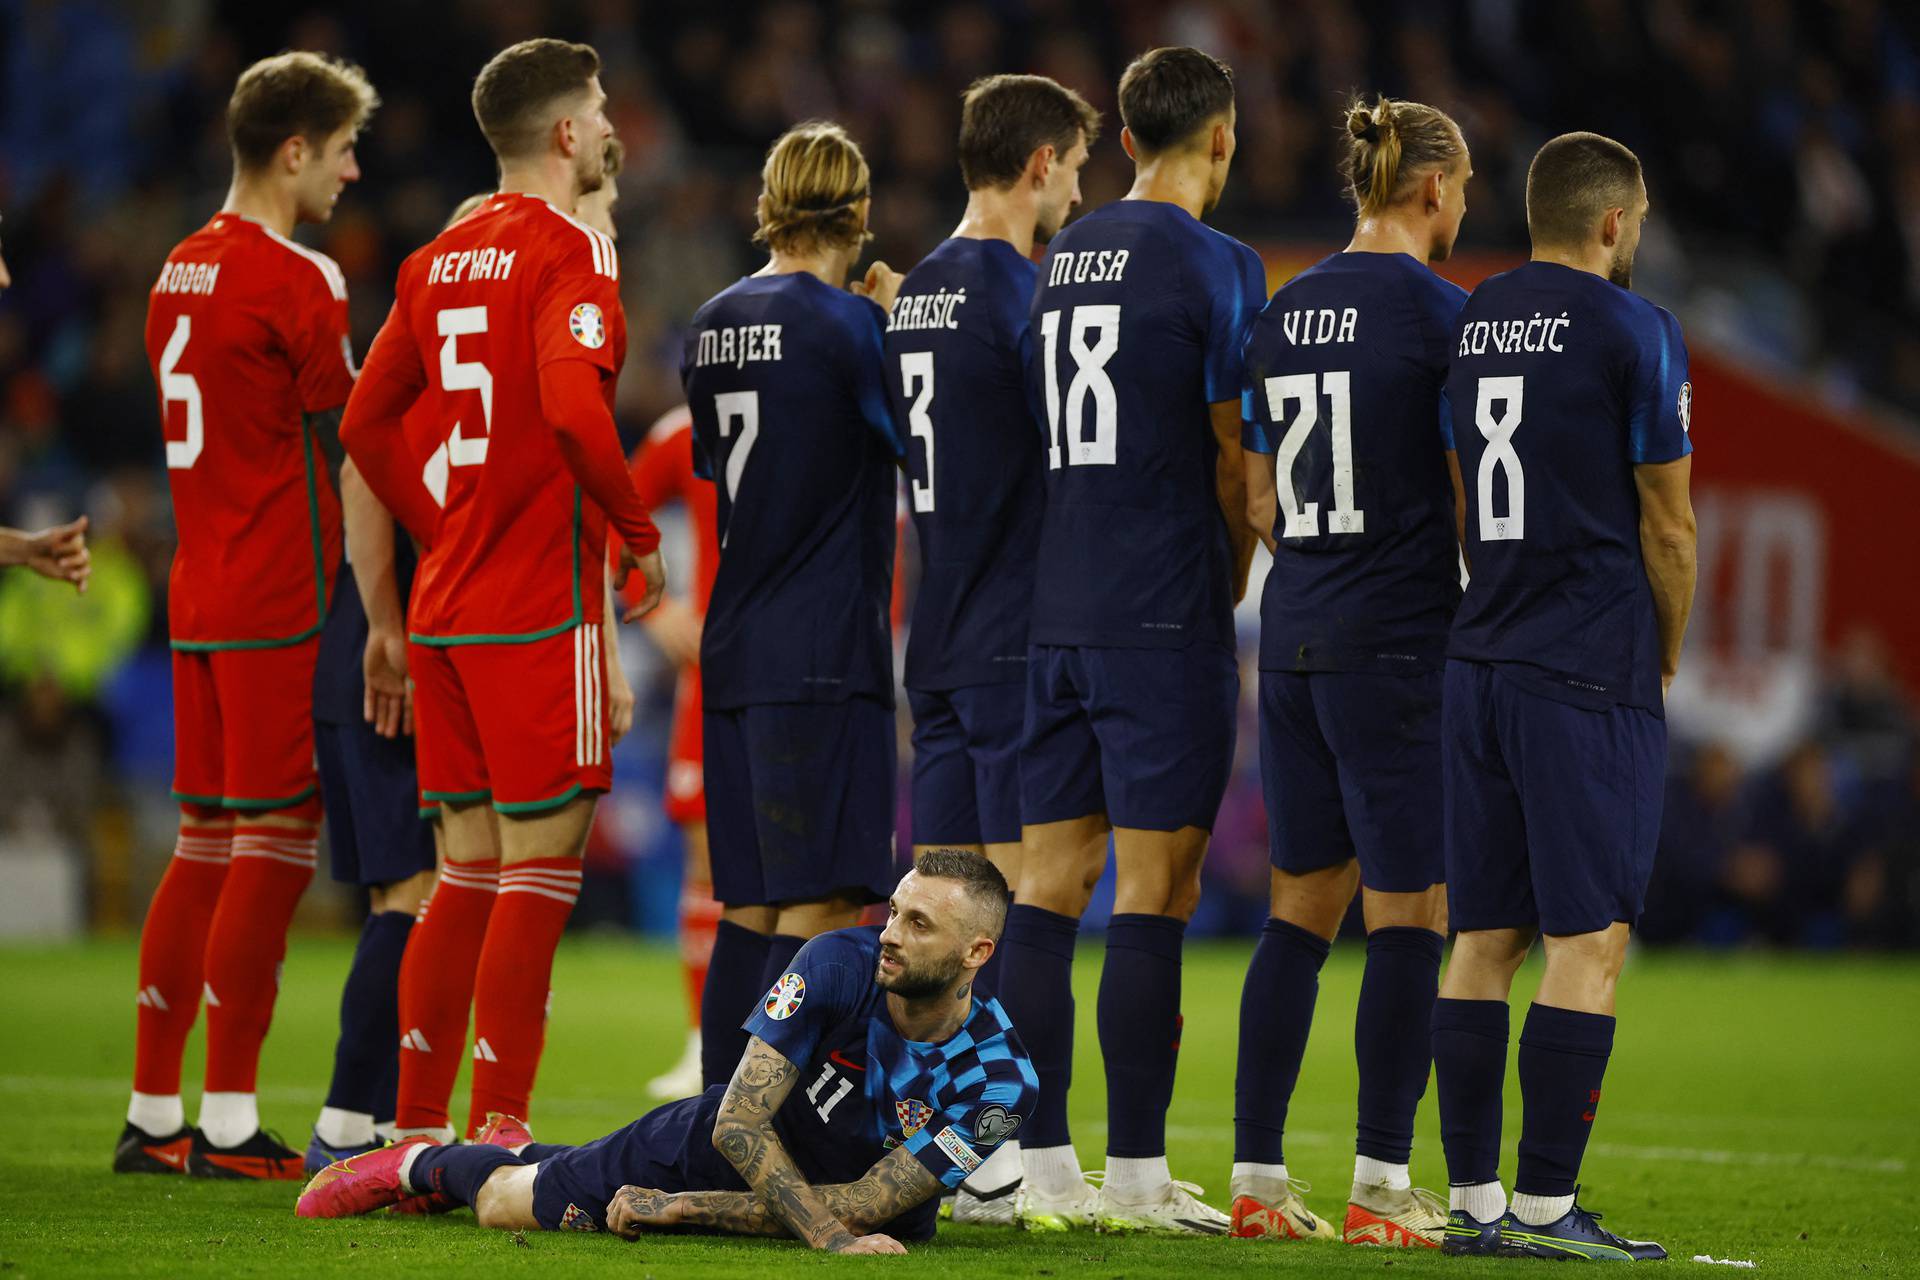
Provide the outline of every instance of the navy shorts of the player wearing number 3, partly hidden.
[[1027,685],[906,691],[914,710],[914,844],[1020,841]]

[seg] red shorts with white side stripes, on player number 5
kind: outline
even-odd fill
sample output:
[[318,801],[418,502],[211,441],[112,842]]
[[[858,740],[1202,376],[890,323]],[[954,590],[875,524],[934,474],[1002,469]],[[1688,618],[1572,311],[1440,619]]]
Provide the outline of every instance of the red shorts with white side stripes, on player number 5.
[[422,804],[557,808],[612,785],[601,626],[524,645],[409,645]]

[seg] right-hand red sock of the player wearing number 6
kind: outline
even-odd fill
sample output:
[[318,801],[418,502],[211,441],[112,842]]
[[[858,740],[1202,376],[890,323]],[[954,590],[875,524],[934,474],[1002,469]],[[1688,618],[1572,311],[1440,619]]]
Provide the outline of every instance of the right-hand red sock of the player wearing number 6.
[[232,865],[205,938],[209,1094],[253,1092],[286,927],[313,879],[317,844],[313,827],[234,827]]

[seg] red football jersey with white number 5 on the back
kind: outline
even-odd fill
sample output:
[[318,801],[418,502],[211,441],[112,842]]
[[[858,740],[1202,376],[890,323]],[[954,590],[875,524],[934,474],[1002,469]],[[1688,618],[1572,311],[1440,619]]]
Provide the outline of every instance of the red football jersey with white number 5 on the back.
[[603,618],[607,516],[563,461],[540,370],[593,365],[612,409],[618,271],[612,240],[507,192],[401,265],[365,376],[417,390],[409,426],[438,439],[422,480],[442,510],[407,610],[415,637],[526,641]]

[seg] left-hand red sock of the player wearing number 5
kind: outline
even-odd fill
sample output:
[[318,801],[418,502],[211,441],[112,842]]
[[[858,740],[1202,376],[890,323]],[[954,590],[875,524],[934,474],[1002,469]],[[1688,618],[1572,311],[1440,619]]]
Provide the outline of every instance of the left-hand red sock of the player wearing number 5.
[[444,1128],[453,1079],[467,1048],[467,1009],[486,940],[499,862],[455,862],[440,867],[434,894],[399,961],[399,1094],[396,1128]]

